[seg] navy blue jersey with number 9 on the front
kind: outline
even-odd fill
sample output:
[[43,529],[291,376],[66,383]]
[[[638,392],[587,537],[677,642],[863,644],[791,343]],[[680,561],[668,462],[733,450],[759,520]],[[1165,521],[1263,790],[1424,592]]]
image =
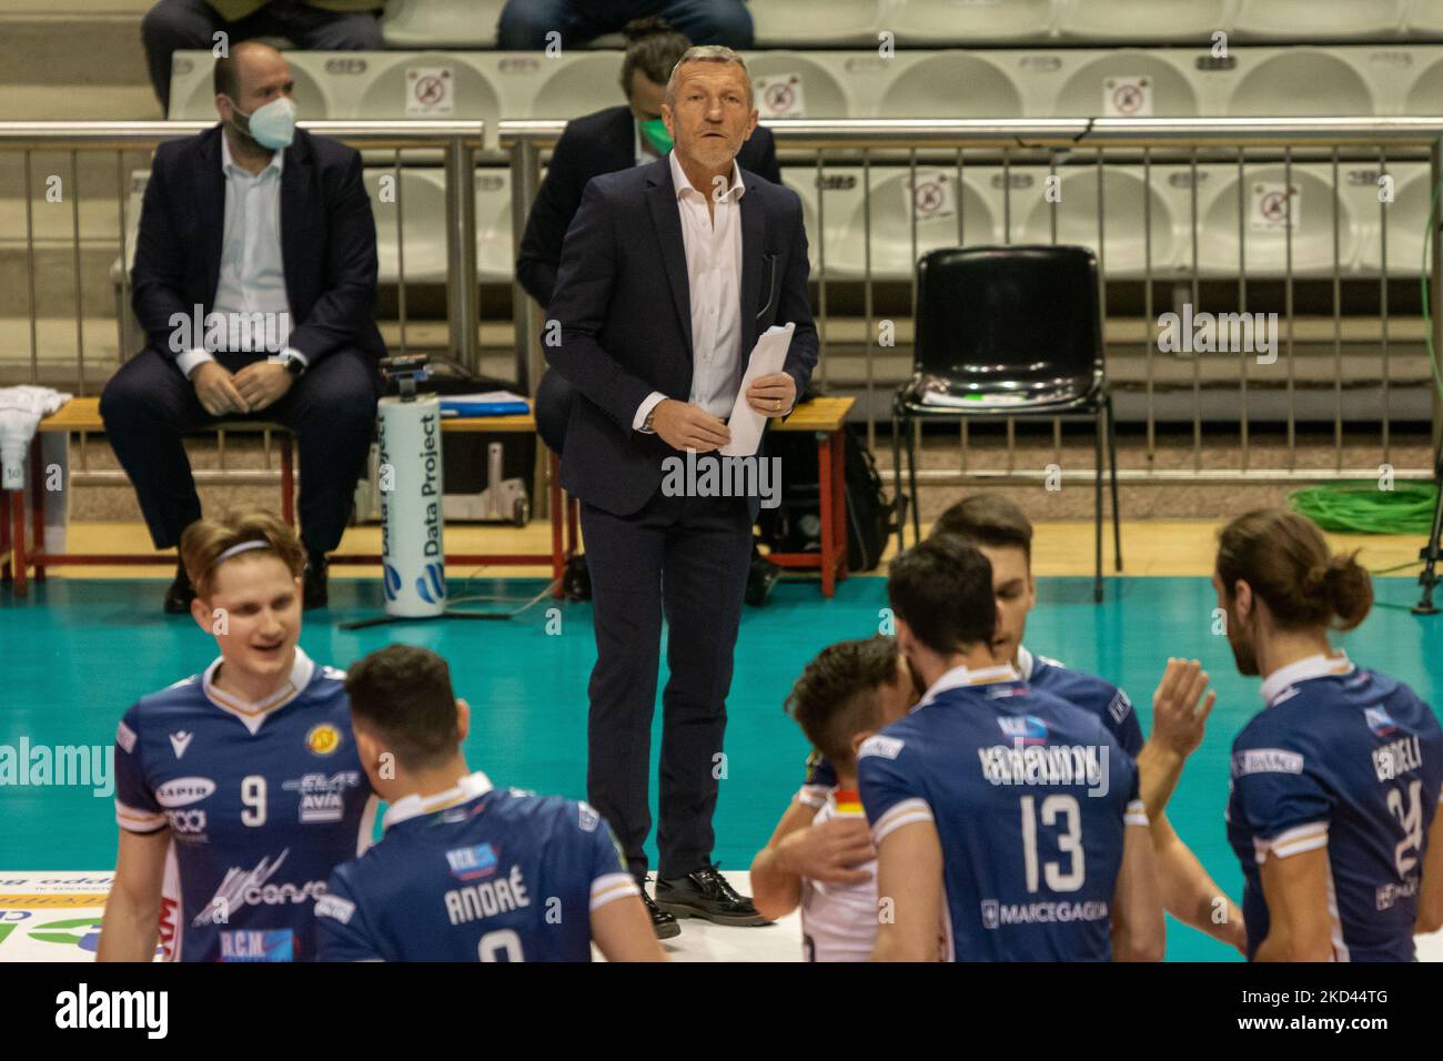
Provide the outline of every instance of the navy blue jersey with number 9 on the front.
[[203,674],[139,700],[115,733],[115,817],[170,830],[160,944],[170,961],[309,961],[313,901],[371,840],[345,673],[296,650],[245,704]]

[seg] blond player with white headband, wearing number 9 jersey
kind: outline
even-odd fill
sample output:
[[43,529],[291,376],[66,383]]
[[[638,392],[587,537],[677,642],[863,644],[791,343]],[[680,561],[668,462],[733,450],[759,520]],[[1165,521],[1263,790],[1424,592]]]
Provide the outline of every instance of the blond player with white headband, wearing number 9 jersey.
[[120,849],[101,961],[304,961],[315,899],[371,839],[377,800],[345,673],[297,645],[306,551],[270,512],[190,524],[190,614],[219,657],[115,733]]

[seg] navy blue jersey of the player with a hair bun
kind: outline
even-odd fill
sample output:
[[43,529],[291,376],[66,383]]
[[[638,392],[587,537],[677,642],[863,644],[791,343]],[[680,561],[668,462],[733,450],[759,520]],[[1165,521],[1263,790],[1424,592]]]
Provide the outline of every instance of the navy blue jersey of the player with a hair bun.
[[1443,732],[1411,689],[1315,655],[1263,683],[1232,742],[1228,842],[1242,863],[1248,957],[1267,938],[1260,866],[1328,849],[1333,957],[1411,961],[1423,855],[1443,788]]

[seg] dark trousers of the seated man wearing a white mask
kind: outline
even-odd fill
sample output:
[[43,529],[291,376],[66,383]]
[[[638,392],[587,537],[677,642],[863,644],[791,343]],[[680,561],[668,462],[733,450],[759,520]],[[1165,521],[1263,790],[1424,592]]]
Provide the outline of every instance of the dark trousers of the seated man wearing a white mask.
[[[264,354],[216,354],[232,372]],[[371,358],[335,351],[307,368],[280,400],[258,413],[214,417],[169,355],[147,346],[105,384],[101,419],[111,449],[136,486],[156,549],[180,541],[201,518],[182,433],[222,420],[270,420],[296,432],[300,455],[300,537],[310,550],[341,543],[356,481],[365,471],[380,375]]]

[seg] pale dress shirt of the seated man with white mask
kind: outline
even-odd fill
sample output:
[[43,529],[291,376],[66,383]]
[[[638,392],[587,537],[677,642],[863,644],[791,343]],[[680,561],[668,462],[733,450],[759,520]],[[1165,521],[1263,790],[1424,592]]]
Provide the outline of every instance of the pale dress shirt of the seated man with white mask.
[[[251,349],[267,354],[293,354],[306,364],[306,355],[287,346],[290,338],[290,302],[286,297],[286,270],[280,251],[280,180],[286,162],[284,152],[255,176],[242,169],[231,154],[231,143],[221,133],[221,172],[225,175],[225,221],[221,243],[221,276],[215,289],[211,313],[231,322],[232,313],[273,315],[260,335],[253,333]],[[209,325],[206,325],[209,332]],[[241,351],[241,335],[227,333],[225,349]],[[186,378],[205,361],[214,361],[209,349],[192,346],[176,357]]]

